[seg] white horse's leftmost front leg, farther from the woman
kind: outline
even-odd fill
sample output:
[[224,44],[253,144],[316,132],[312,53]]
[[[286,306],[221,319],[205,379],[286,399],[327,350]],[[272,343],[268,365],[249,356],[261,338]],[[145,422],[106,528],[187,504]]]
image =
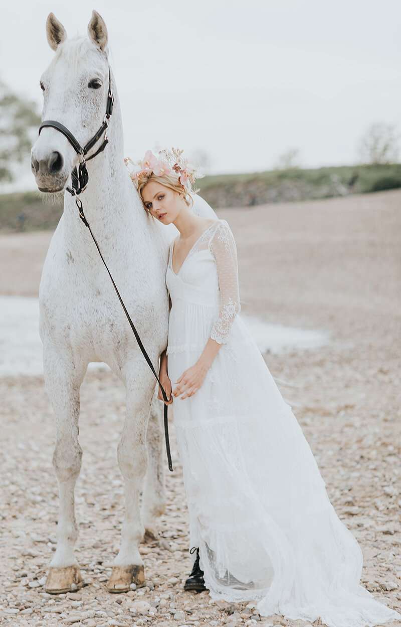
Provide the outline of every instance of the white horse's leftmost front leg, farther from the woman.
[[81,470],[82,456],[78,441],[79,387],[88,364],[73,364],[49,344],[45,344],[43,357],[46,392],[56,415],[53,467],[59,485],[57,547],[44,589],[47,593],[61,594],[83,585],[74,556],[78,538],[74,487]]

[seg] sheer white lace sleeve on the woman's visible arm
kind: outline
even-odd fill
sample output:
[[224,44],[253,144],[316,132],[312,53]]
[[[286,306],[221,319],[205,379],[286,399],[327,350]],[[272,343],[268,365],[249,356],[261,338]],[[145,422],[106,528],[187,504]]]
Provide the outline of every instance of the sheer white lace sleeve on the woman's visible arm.
[[221,220],[220,224],[216,226],[209,246],[216,261],[221,295],[220,312],[213,323],[210,337],[216,340],[218,344],[225,344],[228,340],[231,324],[241,309],[236,245],[226,220]]

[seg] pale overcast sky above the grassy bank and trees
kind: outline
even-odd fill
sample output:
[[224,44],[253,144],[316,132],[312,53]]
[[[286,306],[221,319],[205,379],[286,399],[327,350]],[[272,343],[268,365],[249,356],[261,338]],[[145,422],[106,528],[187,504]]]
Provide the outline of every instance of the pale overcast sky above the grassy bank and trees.
[[212,172],[269,169],[289,148],[349,164],[372,122],[401,130],[400,0],[7,2],[1,78],[41,110],[49,12],[75,36],[93,8],[135,160],[160,144],[206,150]]

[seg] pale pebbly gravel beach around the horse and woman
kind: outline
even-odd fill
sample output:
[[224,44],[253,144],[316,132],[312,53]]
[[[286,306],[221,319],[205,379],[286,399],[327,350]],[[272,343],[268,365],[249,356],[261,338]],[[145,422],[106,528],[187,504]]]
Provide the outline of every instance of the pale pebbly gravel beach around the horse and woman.
[[[362,584],[398,611],[400,207],[401,191],[388,191],[216,211],[236,239],[242,311],[267,322],[331,334],[330,344],[323,347],[266,352],[263,357],[293,406],[338,516],[360,543]],[[8,268],[0,273],[0,294],[38,295],[50,238],[49,232],[0,233],[0,264]],[[165,463],[168,504],[160,520],[161,539],[141,545],[147,586],[126,594],[106,591],[123,520],[116,446],[124,395],[123,385],[109,371],[88,372],[81,386],[76,556],[87,585],[76,593],[51,596],[43,585],[58,515],[53,410],[42,376],[0,378],[0,624],[307,625],[277,615],[260,617],[252,603],[216,603],[207,592],[183,591],[193,558],[173,405],[175,471],[170,473]]]

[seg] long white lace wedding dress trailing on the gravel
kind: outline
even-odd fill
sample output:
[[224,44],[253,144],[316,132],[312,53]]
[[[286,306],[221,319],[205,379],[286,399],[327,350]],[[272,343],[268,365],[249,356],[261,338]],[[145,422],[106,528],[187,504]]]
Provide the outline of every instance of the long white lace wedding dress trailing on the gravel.
[[222,344],[200,389],[174,398],[190,547],[200,549],[214,599],[257,601],[329,627],[401,619],[360,585],[362,551],[328,500],[325,482],[241,319],[236,246],[225,219],[210,224],[180,270],[166,271],[173,389],[209,337]]

